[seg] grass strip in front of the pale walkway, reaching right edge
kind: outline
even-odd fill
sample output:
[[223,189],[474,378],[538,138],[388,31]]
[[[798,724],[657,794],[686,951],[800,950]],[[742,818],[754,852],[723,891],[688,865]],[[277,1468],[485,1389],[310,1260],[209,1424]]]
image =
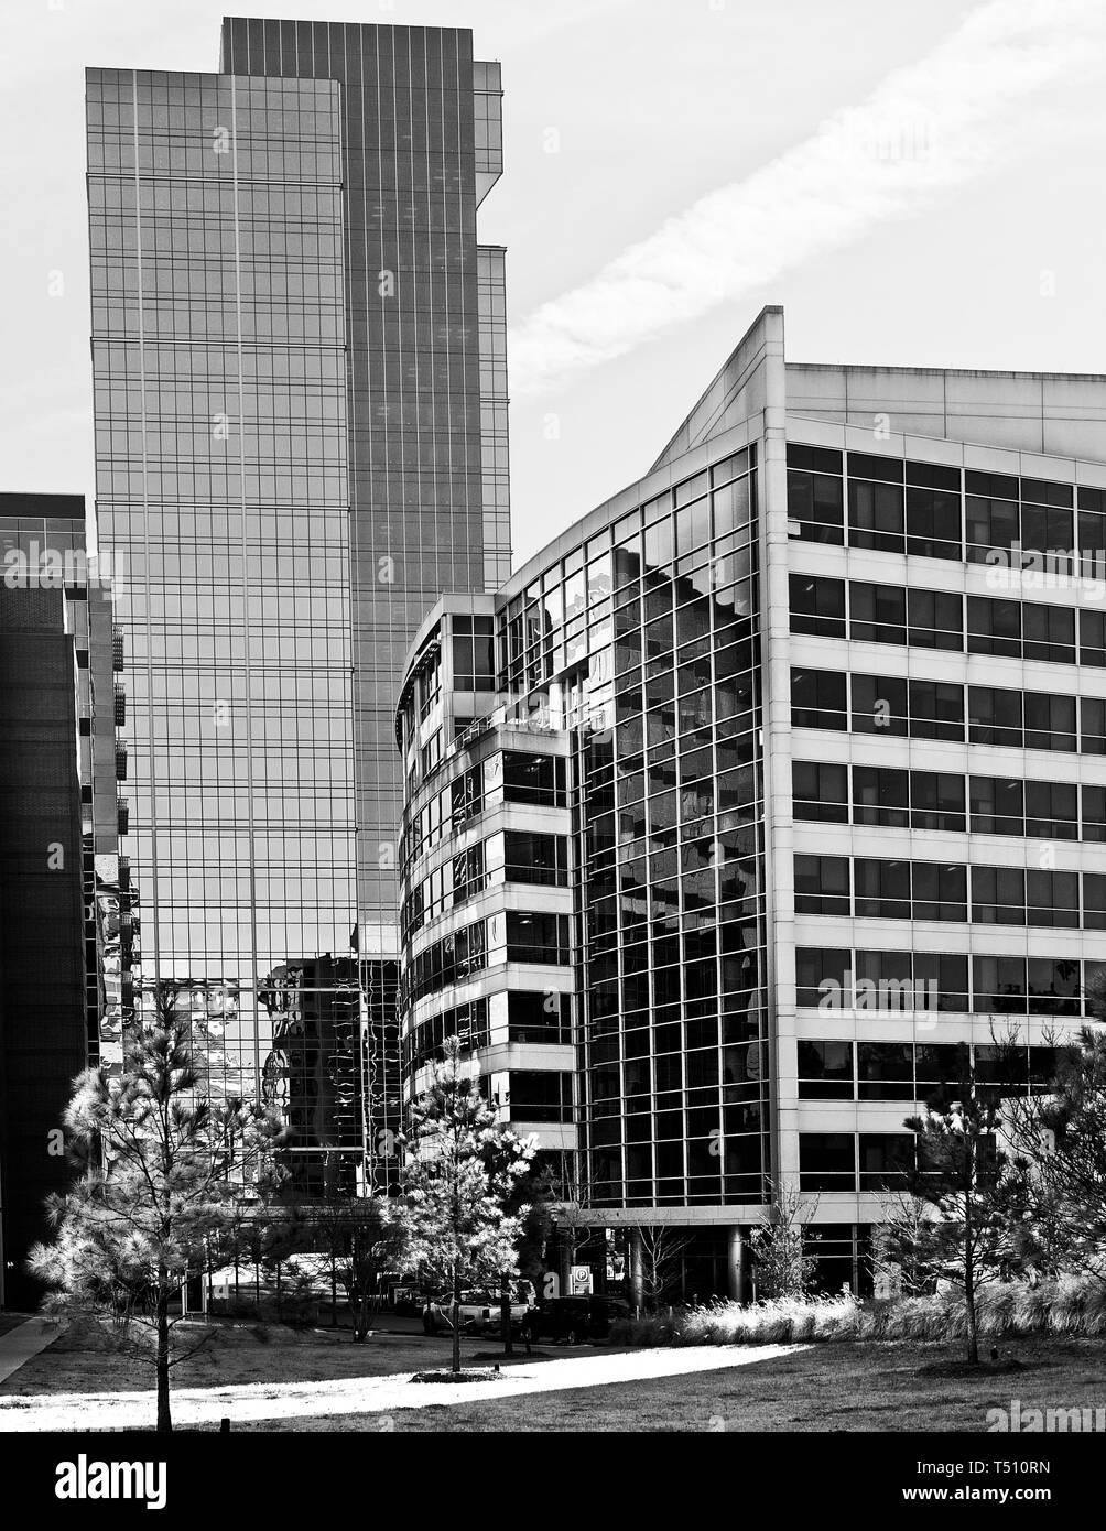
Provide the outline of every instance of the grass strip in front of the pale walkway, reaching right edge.
[[[988,1346],[990,1349],[990,1346]],[[1101,1405],[1106,1344],[1032,1335],[964,1375],[959,1347],[913,1343],[813,1346],[723,1372],[499,1401],[294,1419],[280,1430],[481,1431],[985,1431],[987,1410]],[[267,1430],[267,1425],[245,1425]]]

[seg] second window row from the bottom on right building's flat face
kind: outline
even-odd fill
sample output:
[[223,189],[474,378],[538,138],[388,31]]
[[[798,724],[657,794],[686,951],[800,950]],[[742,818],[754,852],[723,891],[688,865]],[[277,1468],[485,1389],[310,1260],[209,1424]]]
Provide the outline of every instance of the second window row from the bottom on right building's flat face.
[[[927,1101],[964,1078],[967,1046],[948,1043],[798,1043],[801,1101]],[[974,1049],[976,1082],[1003,1093],[1042,1092],[1055,1078],[1055,1047],[1020,1047],[1017,1078],[1006,1049]]]

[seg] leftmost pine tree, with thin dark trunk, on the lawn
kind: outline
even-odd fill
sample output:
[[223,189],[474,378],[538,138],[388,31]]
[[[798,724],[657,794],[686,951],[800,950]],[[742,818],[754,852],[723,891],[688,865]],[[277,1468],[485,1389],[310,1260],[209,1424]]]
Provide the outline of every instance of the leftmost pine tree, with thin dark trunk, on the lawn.
[[205,1343],[179,1340],[170,1312],[190,1272],[248,1243],[250,1213],[276,1176],[280,1124],[237,1099],[213,1101],[178,991],[155,994],[123,1073],[89,1069],[64,1113],[81,1176],[47,1202],[54,1243],[31,1269],[52,1291],[47,1312],[110,1324],[156,1372],[158,1430],[172,1430],[170,1370]]

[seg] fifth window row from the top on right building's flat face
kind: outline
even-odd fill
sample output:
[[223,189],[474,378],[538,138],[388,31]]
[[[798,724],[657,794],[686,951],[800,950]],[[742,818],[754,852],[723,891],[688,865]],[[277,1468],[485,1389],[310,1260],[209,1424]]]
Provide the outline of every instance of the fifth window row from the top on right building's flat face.
[[852,862],[849,856],[797,856],[795,912],[960,923],[971,919],[974,925],[1101,931],[1106,929],[1106,874],[875,856],[856,856]]

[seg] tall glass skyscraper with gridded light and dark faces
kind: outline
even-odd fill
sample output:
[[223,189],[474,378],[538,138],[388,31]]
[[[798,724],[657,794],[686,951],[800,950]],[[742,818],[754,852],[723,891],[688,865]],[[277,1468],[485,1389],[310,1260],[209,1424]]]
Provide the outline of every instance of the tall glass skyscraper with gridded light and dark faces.
[[[463,29],[227,20],[218,73],[90,70],[87,122],[139,998],[191,994],[228,1090],[312,1081],[303,1188],[389,1183],[392,703],[426,606],[510,566],[499,67]],[[293,969],[322,1052],[262,997]]]

